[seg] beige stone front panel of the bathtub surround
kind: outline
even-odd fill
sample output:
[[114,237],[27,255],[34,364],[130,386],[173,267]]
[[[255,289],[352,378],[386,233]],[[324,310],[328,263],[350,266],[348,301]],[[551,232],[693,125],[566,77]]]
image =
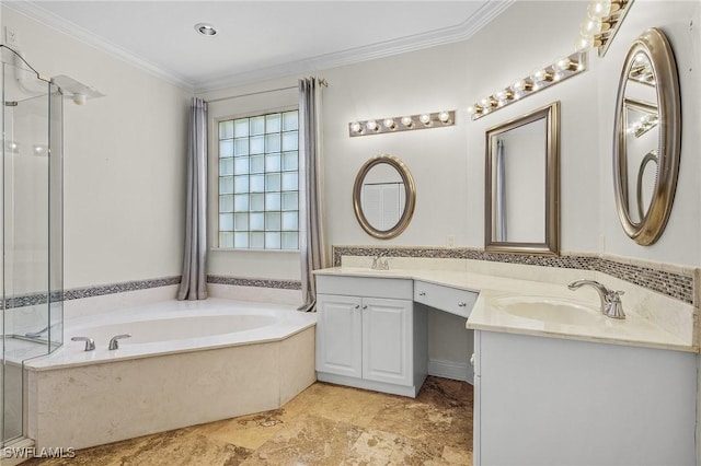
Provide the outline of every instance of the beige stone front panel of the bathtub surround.
[[84,448],[277,409],[311,385],[314,328],[280,341],[27,371],[37,448]]

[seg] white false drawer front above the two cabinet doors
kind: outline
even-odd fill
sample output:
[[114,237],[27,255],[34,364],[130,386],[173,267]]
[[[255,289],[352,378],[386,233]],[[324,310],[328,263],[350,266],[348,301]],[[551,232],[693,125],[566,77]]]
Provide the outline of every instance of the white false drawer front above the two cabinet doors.
[[317,293],[411,300],[414,282],[401,278],[338,277],[318,275]]

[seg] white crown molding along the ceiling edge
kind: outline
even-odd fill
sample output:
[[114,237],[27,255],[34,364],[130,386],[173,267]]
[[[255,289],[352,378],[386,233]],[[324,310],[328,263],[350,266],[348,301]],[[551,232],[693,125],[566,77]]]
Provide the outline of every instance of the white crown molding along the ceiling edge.
[[156,66],[137,55],[127,51],[87,30],[70,23],[62,18],[38,7],[33,1],[4,1],[2,4],[10,10],[24,14],[39,23],[62,34],[73,37],[93,48],[104,51],[122,61],[141,69],[171,84],[177,85],[193,93],[216,91],[225,88],[249,84],[251,82],[269,80],[289,75],[299,75],[310,71],[318,71],[361,61],[420,50],[455,42],[466,40],[489,24],[516,0],[490,1],[481,7],[473,15],[457,26],[444,27],[428,33],[415,34],[398,39],[387,40],[369,46],[352,48],[333,54],[261,68],[256,70],[225,74],[211,80],[191,82],[171,70]]

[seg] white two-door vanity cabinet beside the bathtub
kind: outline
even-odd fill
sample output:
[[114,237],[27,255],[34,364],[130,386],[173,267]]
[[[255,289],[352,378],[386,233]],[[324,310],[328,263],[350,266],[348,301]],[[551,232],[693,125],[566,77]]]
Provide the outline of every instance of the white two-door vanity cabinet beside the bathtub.
[[426,314],[413,281],[317,277],[317,377],[415,397],[426,377]]

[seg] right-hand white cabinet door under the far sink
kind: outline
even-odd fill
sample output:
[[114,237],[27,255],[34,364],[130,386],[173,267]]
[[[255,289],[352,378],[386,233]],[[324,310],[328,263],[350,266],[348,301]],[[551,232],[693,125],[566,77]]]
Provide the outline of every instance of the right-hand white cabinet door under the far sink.
[[363,299],[363,377],[411,385],[413,381],[411,301]]

